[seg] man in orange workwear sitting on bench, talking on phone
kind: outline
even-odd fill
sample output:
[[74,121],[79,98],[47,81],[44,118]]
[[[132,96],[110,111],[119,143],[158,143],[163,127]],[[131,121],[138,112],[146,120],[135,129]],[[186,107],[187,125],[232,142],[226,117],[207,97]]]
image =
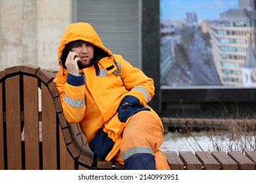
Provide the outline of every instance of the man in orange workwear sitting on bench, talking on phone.
[[58,47],[54,79],[65,118],[79,123],[89,147],[125,169],[169,169],[161,120],[147,103],[152,78],[112,54],[90,24],[70,24]]

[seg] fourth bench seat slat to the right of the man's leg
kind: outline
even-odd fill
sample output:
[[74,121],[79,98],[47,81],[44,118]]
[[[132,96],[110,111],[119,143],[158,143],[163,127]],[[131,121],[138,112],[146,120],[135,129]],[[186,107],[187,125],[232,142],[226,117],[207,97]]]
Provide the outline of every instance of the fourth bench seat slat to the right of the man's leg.
[[212,156],[220,163],[223,170],[236,170],[238,164],[226,152],[211,152]]

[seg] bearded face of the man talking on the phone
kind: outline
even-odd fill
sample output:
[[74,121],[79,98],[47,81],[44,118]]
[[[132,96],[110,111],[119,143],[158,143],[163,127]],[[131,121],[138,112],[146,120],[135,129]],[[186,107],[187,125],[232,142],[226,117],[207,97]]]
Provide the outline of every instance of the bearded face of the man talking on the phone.
[[93,61],[95,48],[93,44],[84,42],[72,48],[71,51],[78,54],[77,58],[80,58],[80,60],[77,61],[77,65],[79,69],[83,69],[88,67]]

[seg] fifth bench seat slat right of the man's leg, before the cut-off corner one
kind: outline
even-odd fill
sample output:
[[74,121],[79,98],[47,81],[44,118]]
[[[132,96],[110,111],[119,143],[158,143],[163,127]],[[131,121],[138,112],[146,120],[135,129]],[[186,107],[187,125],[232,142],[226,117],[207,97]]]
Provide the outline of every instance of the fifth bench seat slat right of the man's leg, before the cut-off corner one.
[[242,152],[228,152],[228,156],[230,156],[236,163],[238,163],[238,167],[242,170],[254,170],[255,163],[247,158]]

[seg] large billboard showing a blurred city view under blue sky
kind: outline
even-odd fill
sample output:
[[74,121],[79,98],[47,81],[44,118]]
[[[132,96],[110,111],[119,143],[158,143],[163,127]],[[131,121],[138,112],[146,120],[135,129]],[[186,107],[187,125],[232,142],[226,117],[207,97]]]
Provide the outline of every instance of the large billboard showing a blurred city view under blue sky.
[[161,86],[256,86],[254,0],[160,0]]

